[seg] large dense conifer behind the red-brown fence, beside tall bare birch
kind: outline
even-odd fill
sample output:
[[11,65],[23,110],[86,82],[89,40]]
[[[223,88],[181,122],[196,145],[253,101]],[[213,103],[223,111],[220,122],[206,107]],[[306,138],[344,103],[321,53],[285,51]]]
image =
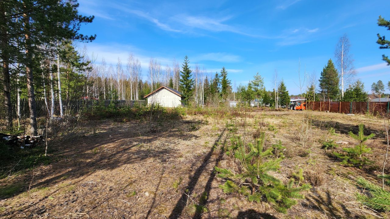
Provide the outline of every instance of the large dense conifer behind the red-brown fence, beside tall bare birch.
[[324,93],[326,100],[336,100],[339,93],[339,74],[333,64],[332,59],[328,60],[328,64],[324,67],[321,72],[321,77],[319,79],[319,87],[321,92]]

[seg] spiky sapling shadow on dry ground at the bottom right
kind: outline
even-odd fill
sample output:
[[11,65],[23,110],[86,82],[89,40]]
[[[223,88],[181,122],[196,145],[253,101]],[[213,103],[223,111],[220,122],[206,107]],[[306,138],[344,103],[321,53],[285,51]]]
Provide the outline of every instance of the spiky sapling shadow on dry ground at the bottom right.
[[330,216],[331,218],[353,218],[354,215],[347,209],[347,207],[337,201],[335,203],[330,191],[325,194],[320,194],[316,188],[310,190],[311,193],[306,195],[307,203],[303,203],[303,207],[311,208]]

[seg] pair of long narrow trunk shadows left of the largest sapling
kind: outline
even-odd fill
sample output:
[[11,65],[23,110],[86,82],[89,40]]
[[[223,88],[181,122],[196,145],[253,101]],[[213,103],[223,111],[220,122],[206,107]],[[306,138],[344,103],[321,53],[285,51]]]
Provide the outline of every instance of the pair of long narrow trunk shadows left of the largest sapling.
[[[222,130],[219,137],[215,140],[214,144],[211,146],[210,151],[206,154],[206,156],[202,160],[202,163],[200,164],[200,166],[197,168],[197,170],[194,172],[194,174],[192,176],[190,176],[190,181],[188,182],[187,186],[185,187],[184,193],[181,195],[179,200],[177,200],[176,205],[173,208],[173,210],[168,218],[176,219],[176,218],[180,217],[181,213],[183,212],[184,208],[186,207],[187,198],[193,194],[195,186],[200,178],[200,175],[202,175],[206,166],[209,164],[211,156],[213,155],[213,152],[215,151],[216,147],[218,146],[218,142],[222,139],[225,131],[226,131],[226,128],[224,128]],[[222,152],[220,152],[220,153],[222,153]],[[209,191],[211,189],[211,182],[215,177],[214,170],[212,170],[212,171],[213,172],[211,173],[209,180],[207,181],[205,191]],[[214,177],[212,177],[213,174],[214,174]]]

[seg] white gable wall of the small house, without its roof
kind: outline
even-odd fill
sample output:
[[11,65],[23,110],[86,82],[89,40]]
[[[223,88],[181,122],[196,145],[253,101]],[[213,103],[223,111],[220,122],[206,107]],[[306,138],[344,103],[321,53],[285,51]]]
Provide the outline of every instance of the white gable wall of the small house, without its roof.
[[161,88],[155,93],[147,97],[148,104],[158,103],[163,107],[178,107],[181,105],[181,97],[168,91],[165,88]]

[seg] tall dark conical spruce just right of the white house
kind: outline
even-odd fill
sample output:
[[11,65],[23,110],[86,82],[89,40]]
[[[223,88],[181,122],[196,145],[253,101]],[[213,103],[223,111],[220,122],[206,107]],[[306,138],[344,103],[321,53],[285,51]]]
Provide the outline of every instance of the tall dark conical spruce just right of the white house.
[[184,63],[182,64],[182,71],[180,71],[180,90],[183,93],[184,104],[189,104],[193,87],[192,71],[188,63],[190,63],[190,61],[188,60],[188,56],[186,56],[184,57]]

